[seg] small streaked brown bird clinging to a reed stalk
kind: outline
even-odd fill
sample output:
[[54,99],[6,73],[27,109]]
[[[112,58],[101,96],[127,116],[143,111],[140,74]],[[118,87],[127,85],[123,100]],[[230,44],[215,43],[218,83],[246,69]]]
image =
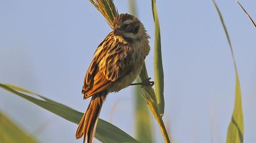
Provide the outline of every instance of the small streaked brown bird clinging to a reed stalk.
[[132,84],[140,74],[149,54],[149,35],[141,21],[133,15],[122,13],[113,20],[113,30],[99,44],[85,74],[82,95],[91,101],[82,116],[76,138],[84,136],[91,143],[102,104],[108,93],[117,92],[129,85],[154,85],[151,78]]

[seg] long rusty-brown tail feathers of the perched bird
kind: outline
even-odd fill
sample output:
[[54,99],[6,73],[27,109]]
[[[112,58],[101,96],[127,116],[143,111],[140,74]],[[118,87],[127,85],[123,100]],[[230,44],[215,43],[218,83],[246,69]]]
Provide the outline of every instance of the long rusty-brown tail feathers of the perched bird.
[[88,105],[88,108],[78,125],[76,139],[79,139],[84,135],[84,143],[86,138],[88,143],[93,142],[97,120],[106,96],[107,94],[105,93],[98,93],[97,95],[93,95],[91,97],[90,104]]

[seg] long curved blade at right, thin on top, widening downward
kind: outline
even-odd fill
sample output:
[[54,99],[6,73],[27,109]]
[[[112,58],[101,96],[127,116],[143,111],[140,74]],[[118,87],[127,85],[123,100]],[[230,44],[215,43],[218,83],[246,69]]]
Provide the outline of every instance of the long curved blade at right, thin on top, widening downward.
[[236,89],[235,89],[235,107],[232,114],[232,119],[229,124],[229,128],[227,130],[227,143],[233,143],[233,142],[243,142],[243,136],[244,136],[244,119],[243,119],[243,108],[242,108],[242,99],[241,99],[241,88],[240,88],[240,81],[238,77],[238,70],[236,68],[236,62],[235,62],[235,56],[233,53],[232,44],[229,38],[229,33],[227,32],[226,25],[224,24],[224,20],[221,16],[221,12],[218,8],[218,5],[213,0],[213,4],[215,5],[215,8],[218,12],[219,19],[221,19],[222,27],[224,28],[224,31],[226,33],[227,41],[229,42],[230,51],[232,54],[233,64],[235,67],[235,78],[236,78]]

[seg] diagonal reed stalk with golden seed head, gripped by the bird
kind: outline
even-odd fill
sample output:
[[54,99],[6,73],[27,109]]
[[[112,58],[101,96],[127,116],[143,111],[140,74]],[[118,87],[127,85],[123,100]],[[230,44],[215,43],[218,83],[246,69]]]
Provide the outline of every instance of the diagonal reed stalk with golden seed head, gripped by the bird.
[[[107,19],[110,27],[113,28],[112,21],[115,18],[115,16],[118,15],[118,12],[115,8],[113,0],[89,0],[89,1],[91,3],[93,3],[93,5],[99,10],[99,12],[102,13],[102,15],[105,17],[105,19]],[[158,37],[158,38],[160,38],[160,37]],[[145,63],[143,64],[143,68],[140,73],[140,79],[141,79],[141,81],[148,79],[148,71],[146,70]],[[166,131],[165,124],[163,124],[163,119],[161,116],[161,115],[163,115],[163,113],[160,114],[158,111],[158,104],[157,104],[157,99],[155,98],[155,91],[152,87],[148,87],[148,86],[143,86],[142,88],[144,91],[144,94],[142,94],[142,96],[147,101],[155,119],[157,120],[157,123],[160,127],[160,130],[162,132],[165,142],[169,143],[170,139],[169,139],[168,133]]]

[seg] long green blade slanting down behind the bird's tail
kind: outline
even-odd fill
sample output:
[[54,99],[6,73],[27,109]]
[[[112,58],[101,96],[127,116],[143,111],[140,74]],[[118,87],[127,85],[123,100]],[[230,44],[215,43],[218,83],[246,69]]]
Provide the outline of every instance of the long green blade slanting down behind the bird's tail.
[[[51,99],[44,98],[43,96],[40,96],[36,93],[33,93],[29,90],[25,90],[20,87],[16,87],[15,85],[9,85],[9,84],[0,84],[0,87],[4,90],[7,90],[15,95],[20,96],[21,98],[27,99],[30,102],[33,102],[34,104],[51,111],[55,115],[61,116],[62,118],[74,122],[75,124],[79,124],[80,119],[84,115],[84,113],[81,113],[79,111],[74,110],[73,108],[70,108],[66,105],[60,104],[58,102],[52,101]],[[23,92],[23,93],[21,93]],[[34,98],[32,96],[26,95],[24,93],[29,93],[37,98]],[[38,99],[40,98],[40,99]],[[131,136],[129,136],[127,133],[125,133],[123,130],[119,129],[115,125],[112,125],[102,119],[98,119],[98,124],[96,128],[96,135],[95,137],[99,139],[101,142],[138,142],[135,139],[133,139]]]

